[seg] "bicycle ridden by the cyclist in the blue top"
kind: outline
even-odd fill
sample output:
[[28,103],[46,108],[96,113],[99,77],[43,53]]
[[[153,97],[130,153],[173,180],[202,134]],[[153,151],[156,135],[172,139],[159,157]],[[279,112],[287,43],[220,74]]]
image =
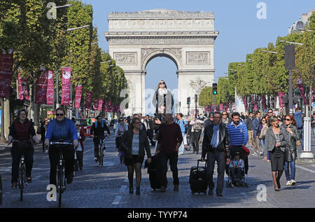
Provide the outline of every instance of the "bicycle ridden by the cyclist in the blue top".
[[50,145],[54,146],[58,150],[58,160],[57,160],[57,193],[58,197],[58,207],[62,204],[62,193],[66,190],[66,175],[65,175],[65,165],[64,165],[64,155],[62,154],[62,147],[73,146],[73,143],[59,141],[51,141]]

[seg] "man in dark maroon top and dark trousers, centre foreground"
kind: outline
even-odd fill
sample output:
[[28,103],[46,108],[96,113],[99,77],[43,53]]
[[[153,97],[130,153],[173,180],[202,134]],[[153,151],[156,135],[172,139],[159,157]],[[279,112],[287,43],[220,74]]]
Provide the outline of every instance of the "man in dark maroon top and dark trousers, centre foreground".
[[183,135],[181,127],[174,123],[172,114],[165,115],[165,123],[162,123],[159,128],[158,146],[155,151],[161,153],[162,165],[162,186],[161,192],[165,192],[167,187],[167,162],[173,173],[174,191],[179,190],[179,169],[177,169],[177,162],[179,160],[179,146],[183,142]]

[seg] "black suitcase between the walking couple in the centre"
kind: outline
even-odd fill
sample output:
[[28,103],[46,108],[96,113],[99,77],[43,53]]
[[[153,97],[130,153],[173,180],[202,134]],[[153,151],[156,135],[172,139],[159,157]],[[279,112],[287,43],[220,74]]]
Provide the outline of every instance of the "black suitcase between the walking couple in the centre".
[[160,155],[153,155],[151,157],[151,163],[148,164],[147,160],[146,160],[146,164],[145,167],[148,167],[148,174],[149,174],[149,180],[150,180],[150,184],[151,184],[151,188],[153,188],[153,190],[155,189],[160,189],[162,184],[162,180],[161,180],[161,162],[160,162]]

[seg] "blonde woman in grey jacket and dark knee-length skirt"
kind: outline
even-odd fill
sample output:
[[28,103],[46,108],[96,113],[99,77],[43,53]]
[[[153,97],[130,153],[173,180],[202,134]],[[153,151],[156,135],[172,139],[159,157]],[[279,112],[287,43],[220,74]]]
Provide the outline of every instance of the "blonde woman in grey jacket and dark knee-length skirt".
[[279,191],[281,188],[280,179],[283,174],[284,152],[286,151],[290,136],[287,130],[280,128],[279,120],[276,116],[269,117],[269,124],[271,127],[266,132],[264,160],[267,162],[267,151],[269,151],[274,190]]

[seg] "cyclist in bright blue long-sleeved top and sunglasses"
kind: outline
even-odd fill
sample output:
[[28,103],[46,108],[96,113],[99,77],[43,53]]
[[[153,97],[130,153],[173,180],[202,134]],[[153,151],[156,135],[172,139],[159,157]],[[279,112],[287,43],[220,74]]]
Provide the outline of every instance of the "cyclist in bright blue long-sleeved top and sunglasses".
[[[69,118],[65,118],[66,111],[62,108],[56,109],[56,118],[51,120],[45,137],[45,144],[49,146],[50,141],[73,142],[73,145],[78,147],[78,134],[76,126]],[[64,155],[65,177],[66,183],[72,183],[73,180],[73,165],[74,165],[74,148],[73,146],[62,147]],[[50,160],[50,184],[57,185],[57,160],[58,151],[54,146],[50,146],[48,150]]]

